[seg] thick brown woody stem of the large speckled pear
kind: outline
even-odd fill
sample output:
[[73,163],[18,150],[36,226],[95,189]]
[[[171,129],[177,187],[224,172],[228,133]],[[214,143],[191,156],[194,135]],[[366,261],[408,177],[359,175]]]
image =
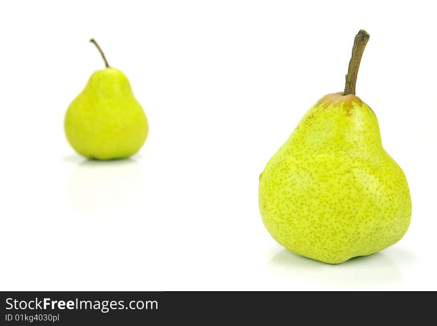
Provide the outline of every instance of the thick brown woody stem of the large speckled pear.
[[346,75],[346,85],[343,95],[355,95],[355,84],[357,83],[358,69],[360,68],[361,58],[365,45],[370,35],[364,29],[361,29],[355,36],[354,47],[352,48],[352,57],[349,61],[348,74]]

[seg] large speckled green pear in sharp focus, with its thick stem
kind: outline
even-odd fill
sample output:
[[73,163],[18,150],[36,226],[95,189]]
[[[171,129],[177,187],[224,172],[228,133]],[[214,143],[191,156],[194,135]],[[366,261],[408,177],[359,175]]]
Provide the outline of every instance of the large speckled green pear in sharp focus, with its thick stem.
[[375,114],[355,96],[368,38],[363,30],[355,38],[345,91],[317,101],[260,175],[271,236],[332,264],[395,244],[411,219],[407,179],[382,148]]

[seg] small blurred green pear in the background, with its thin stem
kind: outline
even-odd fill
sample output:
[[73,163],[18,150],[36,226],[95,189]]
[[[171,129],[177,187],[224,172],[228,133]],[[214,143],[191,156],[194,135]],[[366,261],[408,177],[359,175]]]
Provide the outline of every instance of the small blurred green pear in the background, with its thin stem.
[[111,68],[91,75],[65,115],[65,133],[73,149],[89,159],[113,160],[137,153],[146,141],[146,114],[135,99],[128,78]]

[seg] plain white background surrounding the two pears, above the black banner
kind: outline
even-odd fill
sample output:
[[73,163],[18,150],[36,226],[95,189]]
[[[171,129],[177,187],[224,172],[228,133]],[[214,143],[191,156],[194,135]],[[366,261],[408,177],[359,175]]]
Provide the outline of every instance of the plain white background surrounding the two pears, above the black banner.
[[[437,290],[437,23],[432,1],[3,1],[1,290]],[[304,2],[304,3],[303,3]],[[357,95],[409,181],[392,247],[340,265],[270,237],[258,176],[321,96]],[[95,70],[149,119],[129,160],[86,161],[65,111]]]

